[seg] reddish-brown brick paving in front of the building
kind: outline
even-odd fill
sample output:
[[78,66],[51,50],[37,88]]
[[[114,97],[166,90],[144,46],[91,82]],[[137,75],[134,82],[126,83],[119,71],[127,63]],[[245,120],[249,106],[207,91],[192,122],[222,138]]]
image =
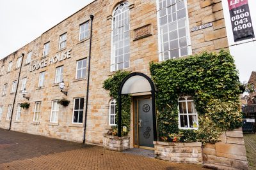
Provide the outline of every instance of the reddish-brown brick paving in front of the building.
[[0,129],[0,169],[203,169]]

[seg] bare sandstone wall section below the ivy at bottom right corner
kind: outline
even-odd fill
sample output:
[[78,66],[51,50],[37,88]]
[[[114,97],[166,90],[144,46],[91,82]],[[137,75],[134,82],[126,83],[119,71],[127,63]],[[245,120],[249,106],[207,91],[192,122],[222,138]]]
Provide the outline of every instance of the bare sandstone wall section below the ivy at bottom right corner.
[[218,143],[207,143],[204,146],[204,166],[218,169],[248,169],[242,129],[224,132],[220,140]]

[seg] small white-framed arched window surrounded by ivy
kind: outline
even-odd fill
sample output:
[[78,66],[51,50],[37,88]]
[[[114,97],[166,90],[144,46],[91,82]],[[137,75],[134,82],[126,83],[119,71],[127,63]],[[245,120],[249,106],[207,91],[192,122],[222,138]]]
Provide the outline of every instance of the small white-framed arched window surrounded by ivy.
[[192,97],[179,98],[179,128],[198,129],[198,118]]

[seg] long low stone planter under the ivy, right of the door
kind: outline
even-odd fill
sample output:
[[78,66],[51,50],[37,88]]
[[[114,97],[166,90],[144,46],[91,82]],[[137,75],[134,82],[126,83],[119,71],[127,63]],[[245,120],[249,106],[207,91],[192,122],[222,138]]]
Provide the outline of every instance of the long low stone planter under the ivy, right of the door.
[[155,158],[176,163],[202,164],[202,143],[168,143],[154,141]]

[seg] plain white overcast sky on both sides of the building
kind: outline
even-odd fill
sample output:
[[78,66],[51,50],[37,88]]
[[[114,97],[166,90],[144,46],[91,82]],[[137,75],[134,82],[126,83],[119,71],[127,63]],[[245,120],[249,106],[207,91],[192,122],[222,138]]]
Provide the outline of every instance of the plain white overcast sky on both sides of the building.
[[[18,50],[93,0],[0,0],[0,59]],[[248,0],[256,34],[256,1]],[[223,0],[228,43],[234,45],[227,0]],[[240,81],[256,71],[256,41],[230,47]]]

